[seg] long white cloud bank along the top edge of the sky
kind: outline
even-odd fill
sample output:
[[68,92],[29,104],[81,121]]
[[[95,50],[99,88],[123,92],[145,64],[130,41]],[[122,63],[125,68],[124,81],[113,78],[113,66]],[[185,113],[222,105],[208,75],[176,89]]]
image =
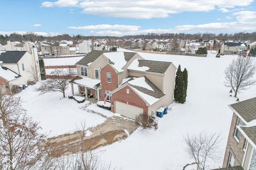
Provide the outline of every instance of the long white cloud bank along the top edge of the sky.
[[[218,8],[221,12],[229,12],[227,8],[248,6],[253,0],[58,0],[43,2],[43,7],[79,7],[85,14],[120,18],[166,18],[170,14],[180,12],[209,12]],[[164,5],[163,5],[164,4]]]

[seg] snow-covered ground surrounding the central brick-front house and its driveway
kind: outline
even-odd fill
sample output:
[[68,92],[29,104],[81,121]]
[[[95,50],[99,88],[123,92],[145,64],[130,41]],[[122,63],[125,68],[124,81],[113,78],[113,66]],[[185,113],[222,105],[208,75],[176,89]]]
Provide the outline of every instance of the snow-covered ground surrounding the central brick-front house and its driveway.
[[[126,51],[118,49],[118,51]],[[130,51],[128,51],[130,52]],[[216,51],[208,53],[207,57],[192,57],[181,55],[158,55],[138,53],[144,59],[169,61],[182,70],[188,70],[188,91],[184,104],[173,103],[169,106],[168,114],[159,118],[158,129],[137,129],[127,139],[112,145],[101,147],[102,160],[111,162],[113,167],[122,170],[180,170],[188,163],[194,162],[184,152],[183,135],[198,134],[202,131],[209,133],[222,132],[223,154],[226,148],[228,132],[232,118],[232,111],[228,104],[236,103],[236,98],[230,97],[230,88],[224,86],[224,69],[237,55],[224,55],[216,58]],[[76,63],[67,58],[60,63]],[[48,59],[47,59],[48,60]],[[255,60],[255,59],[254,59]],[[47,63],[48,61],[45,61]],[[53,63],[51,63],[53,62]],[[46,65],[56,65],[49,61]],[[256,75],[255,75],[256,78]],[[66,96],[71,90],[66,91]],[[234,94],[232,94],[234,96]],[[38,96],[32,91],[32,86],[18,94],[24,99],[24,108],[35,121],[39,121],[42,132],[50,136],[69,133],[76,129],[80,121],[86,120],[87,127],[95,126],[105,119],[99,115],[84,111],[86,103],[78,104],[75,100],[62,98],[62,93],[50,93]],[[256,96],[256,86],[238,94],[240,101]],[[106,109],[91,105],[87,107],[103,115],[114,116]],[[207,167],[222,166],[223,157],[219,162],[208,162]],[[186,170],[191,169],[188,166]],[[193,167],[194,168],[194,167]]]

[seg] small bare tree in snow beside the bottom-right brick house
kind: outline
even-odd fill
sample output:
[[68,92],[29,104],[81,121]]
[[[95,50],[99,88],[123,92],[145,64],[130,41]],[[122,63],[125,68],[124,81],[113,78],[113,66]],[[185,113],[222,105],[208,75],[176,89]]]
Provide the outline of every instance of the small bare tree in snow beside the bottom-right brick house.
[[185,152],[193,158],[197,164],[197,170],[204,170],[208,158],[218,161],[221,156],[221,133],[208,134],[201,132],[199,136],[183,136],[186,147]]

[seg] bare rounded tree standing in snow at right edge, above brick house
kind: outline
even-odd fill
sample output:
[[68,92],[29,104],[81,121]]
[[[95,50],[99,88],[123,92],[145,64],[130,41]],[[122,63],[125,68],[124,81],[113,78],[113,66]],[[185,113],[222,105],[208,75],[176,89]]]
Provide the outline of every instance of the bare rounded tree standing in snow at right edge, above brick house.
[[237,57],[225,69],[224,86],[232,88],[234,97],[256,83],[253,76],[256,72],[255,62],[251,57]]

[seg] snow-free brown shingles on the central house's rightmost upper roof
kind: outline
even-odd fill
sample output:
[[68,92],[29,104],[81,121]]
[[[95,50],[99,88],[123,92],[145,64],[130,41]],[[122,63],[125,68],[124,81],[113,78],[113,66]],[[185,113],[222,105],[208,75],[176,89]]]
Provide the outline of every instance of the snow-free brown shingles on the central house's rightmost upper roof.
[[164,74],[167,68],[170,66],[171,62],[164,61],[151,61],[151,60],[138,60],[139,67],[147,66],[149,69],[146,72],[155,72]]

